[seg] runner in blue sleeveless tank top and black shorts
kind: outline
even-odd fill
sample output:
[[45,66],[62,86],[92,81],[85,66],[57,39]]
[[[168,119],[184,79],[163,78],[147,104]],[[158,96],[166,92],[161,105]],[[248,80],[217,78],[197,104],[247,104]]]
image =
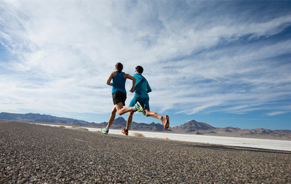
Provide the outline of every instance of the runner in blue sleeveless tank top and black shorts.
[[[123,107],[125,106],[125,100],[126,100],[125,82],[127,79],[132,80],[132,87],[129,91],[133,93],[136,79],[132,77],[131,75],[122,72],[122,70],[123,70],[123,65],[121,63],[117,63],[115,65],[115,71],[111,72],[106,82],[108,85],[112,86],[112,99],[113,99],[114,107],[111,111],[111,116],[109,118],[107,127],[101,129],[101,132],[103,132],[104,134],[108,134],[109,128],[113,120],[115,119],[116,112],[118,112],[119,115],[123,115],[125,113],[128,113],[129,111],[132,111],[132,112],[138,111],[138,112],[145,113],[145,110],[142,108],[142,106],[139,103],[131,107]],[[111,81],[113,81],[113,83],[111,83]]]

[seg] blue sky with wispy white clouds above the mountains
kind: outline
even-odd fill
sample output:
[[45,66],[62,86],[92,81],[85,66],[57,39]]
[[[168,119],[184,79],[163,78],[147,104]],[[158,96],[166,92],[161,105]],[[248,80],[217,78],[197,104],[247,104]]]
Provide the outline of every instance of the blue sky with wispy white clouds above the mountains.
[[291,1],[0,0],[0,112],[108,122],[117,62],[171,127],[291,130]]

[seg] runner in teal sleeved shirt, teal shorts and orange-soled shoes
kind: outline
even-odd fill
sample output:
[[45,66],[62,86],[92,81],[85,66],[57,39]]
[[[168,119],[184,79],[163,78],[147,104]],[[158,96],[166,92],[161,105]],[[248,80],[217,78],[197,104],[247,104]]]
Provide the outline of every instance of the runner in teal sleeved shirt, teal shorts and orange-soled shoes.
[[[149,111],[149,97],[148,94],[149,92],[151,92],[151,88],[148,84],[148,82],[146,81],[146,78],[144,76],[142,76],[142,73],[144,71],[144,68],[141,66],[137,66],[135,67],[135,74],[133,75],[133,77],[136,79],[136,83],[134,86],[134,97],[133,99],[130,101],[129,103],[129,107],[134,106],[134,104],[136,103],[141,103],[142,106],[145,108],[146,113],[144,114],[147,117],[155,117],[157,119],[160,119],[162,121],[162,124],[164,125],[164,130],[167,130],[170,126],[170,122],[169,122],[169,116],[161,116],[159,114],[157,114],[156,112],[151,112]],[[130,111],[129,112],[129,117],[127,119],[127,124],[126,124],[126,128],[122,129],[121,132],[125,135],[128,135],[128,130],[129,130],[129,126],[130,123],[132,121],[132,116],[133,116],[133,112]]]

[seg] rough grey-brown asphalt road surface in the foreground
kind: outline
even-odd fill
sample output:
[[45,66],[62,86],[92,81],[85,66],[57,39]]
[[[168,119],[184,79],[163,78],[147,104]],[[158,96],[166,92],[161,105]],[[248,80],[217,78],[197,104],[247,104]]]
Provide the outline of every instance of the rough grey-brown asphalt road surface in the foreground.
[[0,183],[291,183],[291,152],[0,121]]

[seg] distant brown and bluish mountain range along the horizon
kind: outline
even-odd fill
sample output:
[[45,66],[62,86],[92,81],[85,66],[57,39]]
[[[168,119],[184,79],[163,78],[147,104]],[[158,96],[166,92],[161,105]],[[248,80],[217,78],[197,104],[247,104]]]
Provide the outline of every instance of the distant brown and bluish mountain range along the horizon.
[[[77,120],[65,117],[54,117],[50,115],[41,114],[13,114],[13,113],[0,113],[0,120],[17,121],[17,122],[29,122],[29,123],[45,123],[56,125],[68,125],[68,126],[82,126],[92,128],[106,127],[108,122],[95,123],[87,122],[83,120]],[[112,125],[112,129],[122,129],[126,127],[126,120],[123,117],[116,118]],[[235,137],[252,137],[252,138],[268,138],[268,139],[280,139],[291,140],[290,130],[269,130],[269,129],[240,129],[233,127],[217,128],[207,123],[197,122],[191,120],[180,126],[170,127],[168,130],[163,130],[161,123],[152,122],[150,124],[137,123],[132,121],[130,124],[130,130],[139,131],[157,131],[157,132],[171,132],[181,134],[204,134],[204,135],[217,135],[217,136],[235,136]]]

